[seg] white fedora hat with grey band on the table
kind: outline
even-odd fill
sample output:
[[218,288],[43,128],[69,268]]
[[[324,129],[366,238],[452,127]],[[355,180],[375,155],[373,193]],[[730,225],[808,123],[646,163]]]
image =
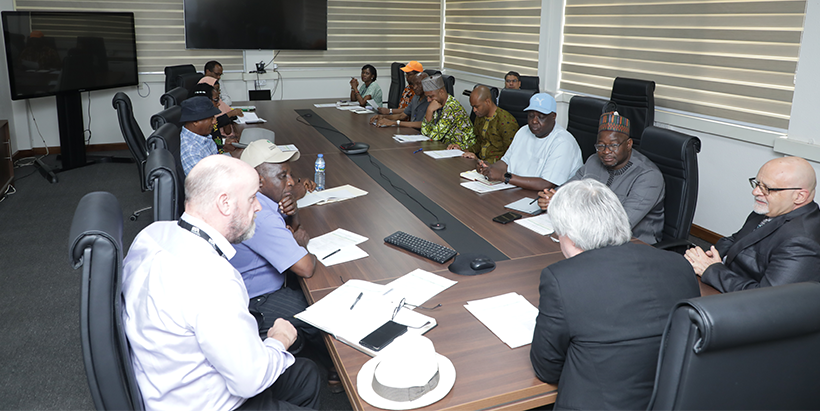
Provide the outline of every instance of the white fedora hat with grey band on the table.
[[427,337],[405,334],[366,362],[359,371],[359,396],[386,410],[426,407],[444,398],[456,382],[456,369],[437,354]]

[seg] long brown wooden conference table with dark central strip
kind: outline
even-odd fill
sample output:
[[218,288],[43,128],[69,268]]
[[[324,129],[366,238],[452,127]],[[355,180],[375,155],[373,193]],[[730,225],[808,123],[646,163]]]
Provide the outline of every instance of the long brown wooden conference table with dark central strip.
[[[365,236],[359,247],[366,258],[325,267],[317,264],[313,277],[302,279],[309,303],[318,301],[349,279],[387,283],[415,269],[458,281],[425,305],[441,307],[425,311],[437,326],[425,334],[436,352],[456,368],[450,393],[426,409],[530,409],[555,401],[557,387],[535,377],[529,359],[530,346],[511,349],[479,322],[464,304],[509,292],[521,294],[538,306],[541,270],[564,257],[552,236],[539,235],[519,224],[502,225],[492,218],[509,210],[506,204],[536,192],[520,188],[477,194],[460,185],[459,173],[473,169],[473,160],[433,159],[424,151],[445,145],[425,141],[399,143],[393,134],[417,134],[411,128],[377,128],[371,115],[336,108],[316,108],[314,103],[332,101],[287,100],[242,103],[256,106],[256,114],[276,133],[276,144],[294,144],[301,158],[292,163],[295,178],[312,178],[313,162],[323,154],[328,188],[344,184],[367,195],[299,210],[302,226],[311,237],[337,228]],[[348,156],[338,145],[347,142],[370,145],[367,154]],[[421,152],[418,150],[422,149]],[[441,231],[428,224],[443,222]],[[451,273],[438,264],[383,239],[396,231],[448,246],[460,254],[481,253],[496,261],[496,269],[478,276]],[[635,240],[636,241],[636,240]],[[321,257],[321,256],[319,256]],[[702,285],[704,294],[715,293]],[[371,357],[325,336],[345,392],[356,410],[377,409],[358,396],[356,378]]]

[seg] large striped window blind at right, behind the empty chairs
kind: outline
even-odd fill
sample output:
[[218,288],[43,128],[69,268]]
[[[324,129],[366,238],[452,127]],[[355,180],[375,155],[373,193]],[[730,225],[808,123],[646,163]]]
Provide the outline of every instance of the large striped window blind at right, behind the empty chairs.
[[652,80],[655,105],[786,129],[805,1],[567,0],[561,88],[609,97]]

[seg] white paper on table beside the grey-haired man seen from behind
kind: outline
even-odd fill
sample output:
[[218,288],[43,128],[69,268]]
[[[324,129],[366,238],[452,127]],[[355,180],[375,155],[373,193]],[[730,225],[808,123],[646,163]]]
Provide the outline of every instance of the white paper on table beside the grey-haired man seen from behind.
[[538,309],[520,294],[468,301],[464,308],[510,348],[532,344]]

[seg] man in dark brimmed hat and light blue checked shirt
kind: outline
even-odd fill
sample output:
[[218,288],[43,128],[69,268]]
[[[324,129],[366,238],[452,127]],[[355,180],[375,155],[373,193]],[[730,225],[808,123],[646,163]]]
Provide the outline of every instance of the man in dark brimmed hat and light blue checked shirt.
[[[200,160],[219,153],[211,137],[211,131],[217,124],[215,116],[220,113],[212,100],[205,96],[185,99],[180,107],[182,112],[179,122],[182,123],[182,129],[179,132],[179,156],[187,176]],[[229,143],[230,141],[226,141],[223,146],[226,154],[240,156],[242,150],[234,148],[233,144]]]

